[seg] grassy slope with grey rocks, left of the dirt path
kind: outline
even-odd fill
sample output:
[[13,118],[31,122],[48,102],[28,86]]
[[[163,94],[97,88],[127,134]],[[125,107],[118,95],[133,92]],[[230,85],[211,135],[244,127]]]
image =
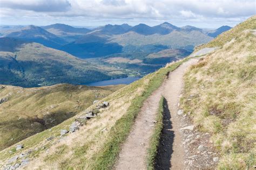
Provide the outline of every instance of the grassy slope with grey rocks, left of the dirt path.
[[[180,63],[162,68],[104,98],[103,101],[108,101],[110,106],[99,109],[97,117],[87,120],[85,125],[79,127],[79,131],[60,137],[60,130],[69,129],[84,112],[54,126],[51,131],[46,130],[20,141],[18,144],[24,145],[22,151],[9,153],[15,146],[6,148],[0,152],[0,166],[6,165],[15,155],[31,151],[25,157],[30,161],[28,168],[111,168],[143,101],[160,86],[167,72],[177,68]],[[87,110],[95,109],[96,105]],[[46,141],[49,137],[54,138]]]

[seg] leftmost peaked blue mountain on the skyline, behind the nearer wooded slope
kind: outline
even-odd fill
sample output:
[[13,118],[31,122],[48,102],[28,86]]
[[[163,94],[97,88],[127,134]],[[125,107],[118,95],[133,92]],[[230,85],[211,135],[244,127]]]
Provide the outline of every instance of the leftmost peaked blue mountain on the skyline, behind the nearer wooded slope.
[[41,27],[30,25],[22,27],[21,30],[6,34],[5,37],[19,38],[22,40],[38,42],[47,47],[59,48],[65,44],[66,41],[55,36]]

